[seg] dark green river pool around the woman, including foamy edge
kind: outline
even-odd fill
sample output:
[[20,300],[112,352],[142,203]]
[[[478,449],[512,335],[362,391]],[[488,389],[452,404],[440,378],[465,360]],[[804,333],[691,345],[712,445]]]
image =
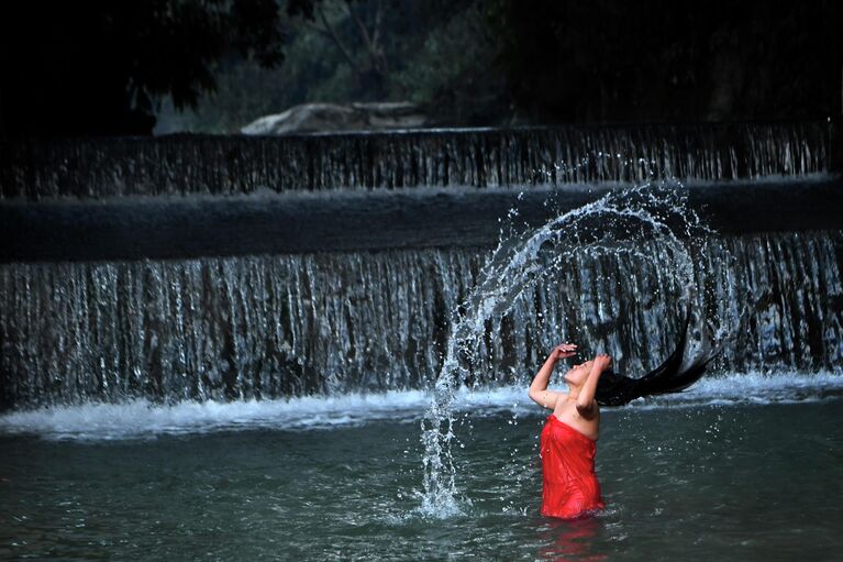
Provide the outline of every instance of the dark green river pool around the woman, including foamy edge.
[[461,514],[420,510],[423,393],[0,418],[0,557],[834,560],[843,377],[741,374],[606,410],[592,519],[542,518],[547,411],[455,401]]

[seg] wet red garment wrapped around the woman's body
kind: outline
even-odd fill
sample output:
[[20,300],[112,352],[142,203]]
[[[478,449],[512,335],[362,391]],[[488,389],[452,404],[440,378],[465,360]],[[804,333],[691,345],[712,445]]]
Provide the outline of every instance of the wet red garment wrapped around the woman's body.
[[542,429],[542,515],[573,519],[606,506],[595,474],[597,443],[555,415]]

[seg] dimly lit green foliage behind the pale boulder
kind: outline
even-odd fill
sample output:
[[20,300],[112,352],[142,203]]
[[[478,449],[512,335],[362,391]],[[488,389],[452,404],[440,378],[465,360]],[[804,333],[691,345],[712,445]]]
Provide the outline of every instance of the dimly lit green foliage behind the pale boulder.
[[[315,9],[312,21],[290,22],[281,66],[264,69],[248,60],[226,60],[219,67],[217,91],[180,122],[174,123],[179,118],[165,106],[159,131],[169,125],[234,132],[258,117],[304,102],[409,100],[429,108],[435,122],[444,124],[488,124],[507,113],[506,84],[495,68],[499,49],[487,31],[485,2],[328,0]],[[347,57],[320,31],[325,29],[320,10]],[[377,38],[382,60],[373,62],[352,10],[369,40]],[[374,82],[373,73],[380,74]]]

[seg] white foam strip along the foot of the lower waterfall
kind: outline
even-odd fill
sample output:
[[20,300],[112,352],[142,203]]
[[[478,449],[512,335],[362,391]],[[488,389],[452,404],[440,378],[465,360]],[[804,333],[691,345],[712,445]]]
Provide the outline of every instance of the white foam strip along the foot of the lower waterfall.
[[[709,376],[681,394],[639,399],[626,408],[674,408],[699,405],[814,401],[843,395],[843,375],[833,373],[734,374]],[[148,400],[91,403],[11,411],[0,416],[0,433],[36,434],[45,439],[151,439],[162,434],[264,428],[275,430],[330,429],[376,420],[419,421],[430,404],[422,390],[396,390],[339,396],[308,396],[278,400],[232,403],[185,401],[163,406]],[[525,386],[461,389],[457,412],[493,416],[541,416]]]

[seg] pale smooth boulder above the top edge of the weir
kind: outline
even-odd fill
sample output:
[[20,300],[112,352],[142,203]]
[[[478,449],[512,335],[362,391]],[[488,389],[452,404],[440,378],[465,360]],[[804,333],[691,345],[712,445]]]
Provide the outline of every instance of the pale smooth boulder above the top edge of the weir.
[[407,101],[367,103],[302,103],[282,113],[262,117],[243,129],[243,134],[290,134],[330,131],[415,129],[428,118]]

